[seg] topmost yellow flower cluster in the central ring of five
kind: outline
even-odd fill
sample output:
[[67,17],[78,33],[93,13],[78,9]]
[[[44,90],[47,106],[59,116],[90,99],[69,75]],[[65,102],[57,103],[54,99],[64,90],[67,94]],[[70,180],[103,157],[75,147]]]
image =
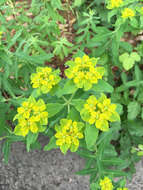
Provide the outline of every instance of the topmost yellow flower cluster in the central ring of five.
[[89,58],[87,55],[82,58],[77,57],[74,61],[67,62],[69,68],[65,70],[65,75],[73,79],[78,88],[89,90],[93,84],[102,79],[105,72],[103,67],[97,67],[96,64],[96,58]]

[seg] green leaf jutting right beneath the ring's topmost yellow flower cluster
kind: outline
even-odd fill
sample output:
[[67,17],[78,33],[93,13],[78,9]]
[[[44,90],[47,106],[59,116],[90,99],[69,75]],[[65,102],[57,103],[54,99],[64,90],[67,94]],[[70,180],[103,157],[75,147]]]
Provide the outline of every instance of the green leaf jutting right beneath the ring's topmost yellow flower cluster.
[[95,84],[91,90],[94,90],[95,92],[108,92],[112,93],[114,88],[104,80],[99,80],[97,84]]

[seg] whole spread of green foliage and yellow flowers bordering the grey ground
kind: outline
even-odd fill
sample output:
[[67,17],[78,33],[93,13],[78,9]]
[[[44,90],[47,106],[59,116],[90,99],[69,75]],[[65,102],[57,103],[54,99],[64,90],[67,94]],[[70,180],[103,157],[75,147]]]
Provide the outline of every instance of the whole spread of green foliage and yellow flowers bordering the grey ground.
[[143,156],[142,0],[0,2],[0,140],[76,152],[91,190],[127,190]]

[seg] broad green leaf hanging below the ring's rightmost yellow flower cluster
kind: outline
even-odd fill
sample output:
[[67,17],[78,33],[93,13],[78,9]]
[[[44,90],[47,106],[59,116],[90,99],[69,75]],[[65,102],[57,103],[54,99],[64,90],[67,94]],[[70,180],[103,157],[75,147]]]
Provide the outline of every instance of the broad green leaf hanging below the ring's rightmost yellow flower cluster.
[[87,144],[87,148],[89,150],[93,150],[94,145],[98,138],[99,130],[94,125],[86,125],[84,134],[85,134],[85,141]]

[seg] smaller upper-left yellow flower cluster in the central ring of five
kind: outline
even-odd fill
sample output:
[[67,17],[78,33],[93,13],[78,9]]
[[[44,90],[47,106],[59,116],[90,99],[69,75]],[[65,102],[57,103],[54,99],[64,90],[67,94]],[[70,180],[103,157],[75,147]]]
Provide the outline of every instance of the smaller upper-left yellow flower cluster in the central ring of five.
[[60,80],[59,70],[52,71],[50,67],[37,67],[36,73],[31,75],[32,87],[38,88],[44,94],[48,93]]

